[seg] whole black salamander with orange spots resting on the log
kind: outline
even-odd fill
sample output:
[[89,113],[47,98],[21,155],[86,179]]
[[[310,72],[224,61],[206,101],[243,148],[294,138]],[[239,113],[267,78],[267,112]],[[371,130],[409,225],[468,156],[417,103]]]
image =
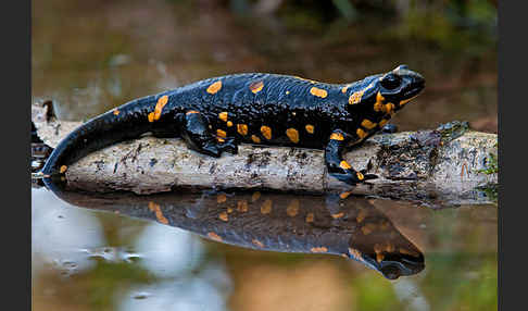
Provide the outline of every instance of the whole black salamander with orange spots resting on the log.
[[209,78],[88,121],[59,144],[40,174],[62,174],[91,151],[152,133],[181,137],[212,157],[235,154],[240,142],[324,149],[328,173],[355,185],[376,175],[355,171],[343,150],[381,129],[424,86],[406,65],[351,84],[264,73]]

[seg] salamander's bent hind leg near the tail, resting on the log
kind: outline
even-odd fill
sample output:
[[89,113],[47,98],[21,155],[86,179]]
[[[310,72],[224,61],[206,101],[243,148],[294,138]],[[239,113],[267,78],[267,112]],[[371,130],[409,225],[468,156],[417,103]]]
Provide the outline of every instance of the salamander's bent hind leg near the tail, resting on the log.
[[237,154],[235,138],[217,137],[208,128],[208,121],[199,111],[188,111],[184,116],[181,137],[190,149],[218,158],[223,151]]

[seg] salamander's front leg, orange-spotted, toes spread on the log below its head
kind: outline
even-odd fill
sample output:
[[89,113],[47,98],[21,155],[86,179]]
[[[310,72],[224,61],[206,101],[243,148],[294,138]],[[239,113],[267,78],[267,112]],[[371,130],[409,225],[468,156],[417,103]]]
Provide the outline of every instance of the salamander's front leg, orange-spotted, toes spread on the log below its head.
[[355,171],[352,165],[342,158],[341,154],[345,146],[353,140],[352,136],[340,129],[336,129],[330,135],[328,145],[325,148],[325,164],[328,174],[349,185],[356,185],[367,179],[377,178],[374,174],[365,174],[366,170],[361,172]]

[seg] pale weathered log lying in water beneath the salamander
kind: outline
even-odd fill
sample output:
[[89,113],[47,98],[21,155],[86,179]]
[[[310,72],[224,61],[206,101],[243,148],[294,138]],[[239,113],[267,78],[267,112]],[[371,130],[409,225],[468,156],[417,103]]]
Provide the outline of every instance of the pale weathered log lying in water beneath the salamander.
[[[33,121],[39,137],[54,147],[80,123],[50,117],[49,107],[34,104]],[[496,135],[465,130],[460,123],[444,130],[376,135],[345,158],[356,169],[370,162],[369,172],[379,178],[351,189],[327,175],[322,150],[241,145],[239,154],[215,159],[190,151],[180,139],[147,136],[85,157],[68,167],[66,178],[71,186],[96,191],[150,194],[175,187],[351,190],[428,202],[485,203],[490,199],[475,188],[498,181],[496,173],[480,173],[490,153],[496,154]]]

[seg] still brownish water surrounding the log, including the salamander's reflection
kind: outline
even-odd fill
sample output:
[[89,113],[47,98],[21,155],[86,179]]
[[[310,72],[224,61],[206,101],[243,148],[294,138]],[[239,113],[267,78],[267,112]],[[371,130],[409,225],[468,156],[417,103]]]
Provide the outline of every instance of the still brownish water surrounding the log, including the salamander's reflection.
[[[61,119],[80,120],[215,75],[341,83],[406,63],[427,87],[394,117],[400,129],[466,120],[496,130],[494,47],[475,55],[386,38],[379,17],[320,26],[291,12],[237,17],[197,3],[34,1],[34,100],[52,99]],[[254,194],[32,195],[35,310],[496,309],[496,206],[432,210],[368,198],[340,206],[265,192],[255,202]],[[262,213],[266,200],[272,208]],[[315,221],[306,222],[311,212]],[[364,222],[374,227],[362,231]],[[411,264],[402,245],[424,265],[419,256]],[[414,270],[391,281],[349,248],[370,265]]]

